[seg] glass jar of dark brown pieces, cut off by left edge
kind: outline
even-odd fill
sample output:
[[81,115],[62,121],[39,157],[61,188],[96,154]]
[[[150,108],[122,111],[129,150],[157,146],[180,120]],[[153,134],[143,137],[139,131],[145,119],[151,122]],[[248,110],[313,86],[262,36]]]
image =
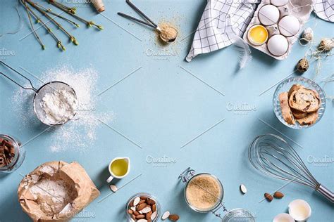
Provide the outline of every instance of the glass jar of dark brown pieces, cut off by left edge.
[[25,149],[15,138],[0,134],[0,174],[16,171],[25,159]]

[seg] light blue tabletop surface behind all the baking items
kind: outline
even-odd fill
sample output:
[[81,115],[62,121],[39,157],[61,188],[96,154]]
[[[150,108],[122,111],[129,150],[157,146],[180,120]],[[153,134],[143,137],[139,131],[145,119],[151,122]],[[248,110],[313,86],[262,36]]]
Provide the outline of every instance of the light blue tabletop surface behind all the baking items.
[[[22,179],[19,174],[28,174],[39,164],[53,160],[79,162],[101,191],[97,200],[85,208],[86,216],[74,218],[73,221],[125,221],[125,204],[137,192],[149,192],[156,196],[162,210],[179,214],[180,221],[218,221],[213,214],[196,213],[185,204],[184,185],[178,181],[178,175],[187,166],[197,172],[209,172],[218,176],[225,189],[225,207],[249,209],[256,216],[256,221],[272,221],[276,214],[287,211],[287,204],[295,199],[306,200],[311,205],[312,216],[309,221],[333,220],[333,204],[318,197],[311,189],[292,183],[281,190],[285,194],[282,200],[260,202],[264,192],[273,192],[285,185],[285,182],[262,176],[252,169],[247,159],[248,145],[255,136],[262,133],[284,134],[302,145],[303,148],[299,148],[290,141],[318,181],[334,190],[333,161],[321,166],[307,161],[310,155],[333,159],[333,103],[327,100],[325,115],[318,124],[299,131],[281,124],[272,110],[272,96],[276,89],[273,85],[294,70],[307,47],[295,44],[292,53],[283,61],[252,50],[253,60],[243,70],[238,70],[235,46],[199,55],[191,63],[186,63],[184,58],[190,48],[192,35],[182,42],[179,39],[169,48],[165,47],[174,55],[148,56],[148,49],[155,52],[163,49],[155,44],[154,33],[116,15],[118,11],[123,11],[137,16],[124,1],[104,1],[105,17],[97,15],[89,5],[78,8],[81,15],[104,25],[104,30],[87,30],[84,25],[73,30],[80,46],[66,43],[67,51],[63,53],[56,49],[54,40],[44,34],[42,29],[39,34],[47,44],[47,50],[40,50],[32,34],[20,41],[30,33],[26,15],[23,14],[23,30],[0,38],[0,48],[14,51],[15,55],[2,56],[1,59],[14,67],[25,67],[37,77],[59,64],[71,65],[74,69],[94,67],[99,73],[99,89],[108,88],[142,67],[101,95],[103,99],[97,105],[101,112],[115,113],[116,118],[111,122],[113,129],[123,133],[142,149],[103,124],[99,126],[97,141],[89,152],[74,152],[69,149],[51,152],[48,138],[52,132],[42,134],[25,146],[27,155],[20,169],[0,178],[1,222],[29,220],[18,203],[17,187]],[[15,3],[16,1],[1,1],[1,32],[11,31],[18,24],[13,7]],[[136,1],[136,4],[156,21],[172,20],[180,27],[180,36],[185,37],[197,27],[206,2],[152,0]],[[21,13],[22,9],[20,8]],[[306,26],[314,27],[316,41],[321,37],[333,37],[333,24],[315,18],[314,14]],[[322,63],[316,81],[320,83],[322,78],[330,74],[333,74],[333,58]],[[315,63],[303,76],[315,76]],[[333,83],[320,85],[328,95],[333,95]],[[273,88],[259,96],[271,86]],[[11,107],[9,104],[13,91],[16,90],[16,85],[1,77],[0,132],[16,136],[25,143],[46,126],[32,126],[29,130],[19,131],[20,116],[8,109]],[[229,103],[247,103],[256,107],[256,110],[240,115],[229,111]],[[214,126],[222,119],[225,120]],[[206,131],[211,126],[214,127]],[[203,133],[204,131],[206,132]],[[199,136],[201,133],[202,136]],[[189,141],[191,142],[185,145]],[[183,145],[185,147],[180,149]],[[117,156],[128,156],[131,161],[130,174],[119,181],[119,186],[128,183],[135,176],[141,176],[98,203],[111,192],[105,183],[108,175],[106,167]],[[175,159],[175,163],[163,167],[154,166],[147,162],[148,156],[170,157]],[[247,186],[246,195],[240,194],[240,183]]]

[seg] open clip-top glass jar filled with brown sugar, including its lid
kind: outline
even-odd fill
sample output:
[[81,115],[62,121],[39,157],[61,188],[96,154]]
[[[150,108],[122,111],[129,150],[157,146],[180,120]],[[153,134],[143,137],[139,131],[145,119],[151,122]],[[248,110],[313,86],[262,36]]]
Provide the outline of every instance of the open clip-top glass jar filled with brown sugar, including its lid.
[[[213,213],[223,222],[255,222],[254,216],[247,209],[233,209],[228,211],[223,204],[224,189],[219,179],[207,173],[196,174],[188,167],[180,174],[179,179],[185,183],[185,202],[199,213]],[[217,211],[223,208],[225,216]]]

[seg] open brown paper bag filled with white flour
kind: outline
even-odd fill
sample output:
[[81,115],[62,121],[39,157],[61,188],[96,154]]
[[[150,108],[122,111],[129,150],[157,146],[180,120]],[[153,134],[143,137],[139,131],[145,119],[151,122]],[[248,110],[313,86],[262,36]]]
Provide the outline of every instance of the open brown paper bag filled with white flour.
[[69,221],[99,196],[77,162],[46,162],[18,186],[20,205],[33,221]]

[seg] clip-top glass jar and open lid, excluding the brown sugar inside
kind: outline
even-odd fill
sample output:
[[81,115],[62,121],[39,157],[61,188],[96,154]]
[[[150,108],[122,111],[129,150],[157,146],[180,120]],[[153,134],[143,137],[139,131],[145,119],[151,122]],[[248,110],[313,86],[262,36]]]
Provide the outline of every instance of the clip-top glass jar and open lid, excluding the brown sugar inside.
[[[216,197],[218,201],[212,207],[208,209],[198,209],[197,207],[192,206],[192,204],[190,204],[190,202],[187,200],[187,194],[186,194],[187,186],[190,184],[190,181],[192,181],[197,176],[210,176],[211,178],[214,178],[217,181],[219,186],[221,186],[221,192],[219,193],[219,197]],[[190,167],[188,167],[187,169],[185,169],[185,171],[183,171],[182,174],[180,174],[178,178],[181,181],[183,181],[183,183],[185,183],[185,190],[183,192],[184,197],[185,197],[185,202],[187,202],[187,205],[194,211],[197,211],[199,213],[211,212],[215,216],[221,218],[221,221],[223,222],[233,222],[233,221],[255,222],[254,216],[246,209],[238,208],[238,209],[233,209],[233,210],[228,211],[228,209],[225,208],[223,204],[223,196],[224,196],[223,184],[221,183],[221,181],[219,181],[219,179],[216,176],[212,174],[207,174],[207,173],[196,174],[193,169],[190,169]],[[223,211],[226,212],[225,216],[223,217],[221,216],[221,214],[217,213],[217,211],[221,208],[223,208]]]

